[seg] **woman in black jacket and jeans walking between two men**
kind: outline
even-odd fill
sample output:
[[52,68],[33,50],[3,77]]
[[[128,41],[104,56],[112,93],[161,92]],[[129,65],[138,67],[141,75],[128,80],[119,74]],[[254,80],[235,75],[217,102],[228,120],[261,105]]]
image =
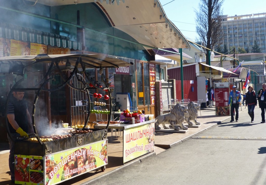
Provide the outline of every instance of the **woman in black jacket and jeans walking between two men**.
[[251,123],[254,122],[254,109],[257,106],[256,93],[253,91],[253,87],[248,87],[248,92],[246,92],[246,106],[248,106],[248,115],[251,117]]

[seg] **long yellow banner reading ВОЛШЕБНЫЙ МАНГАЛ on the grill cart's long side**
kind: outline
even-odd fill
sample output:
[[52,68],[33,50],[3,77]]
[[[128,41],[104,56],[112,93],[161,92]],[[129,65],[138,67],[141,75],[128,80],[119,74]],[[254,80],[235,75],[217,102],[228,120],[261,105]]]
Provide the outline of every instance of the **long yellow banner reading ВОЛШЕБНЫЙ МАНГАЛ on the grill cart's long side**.
[[107,164],[107,139],[45,156],[45,183],[52,185]]

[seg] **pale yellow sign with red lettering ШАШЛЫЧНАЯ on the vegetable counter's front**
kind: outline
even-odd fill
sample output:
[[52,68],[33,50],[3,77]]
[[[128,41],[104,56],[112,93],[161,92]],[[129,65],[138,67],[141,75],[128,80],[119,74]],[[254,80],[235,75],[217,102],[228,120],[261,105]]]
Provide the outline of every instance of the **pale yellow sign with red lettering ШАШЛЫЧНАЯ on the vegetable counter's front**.
[[154,122],[136,128],[125,129],[123,133],[123,163],[133,160],[154,149]]

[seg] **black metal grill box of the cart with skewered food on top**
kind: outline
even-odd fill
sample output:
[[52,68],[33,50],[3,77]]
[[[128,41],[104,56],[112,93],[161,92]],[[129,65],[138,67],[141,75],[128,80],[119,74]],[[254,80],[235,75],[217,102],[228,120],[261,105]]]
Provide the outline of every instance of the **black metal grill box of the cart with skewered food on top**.
[[77,130],[71,134],[51,134],[45,136],[38,136],[42,143],[35,137],[16,140],[15,153],[21,155],[36,155],[44,156],[46,154],[60,152],[89,143],[100,141],[107,133],[106,129],[85,129]]

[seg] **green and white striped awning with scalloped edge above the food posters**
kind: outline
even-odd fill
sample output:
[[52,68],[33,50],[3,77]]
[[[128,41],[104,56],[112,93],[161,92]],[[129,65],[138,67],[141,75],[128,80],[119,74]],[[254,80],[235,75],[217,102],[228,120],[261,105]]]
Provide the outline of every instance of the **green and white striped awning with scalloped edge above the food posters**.
[[73,50],[82,50],[81,42],[69,40],[69,37],[56,35],[53,33],[38,31],[30,28],[24,28],[11,24],[0,22],[0,37],[14,39],[23,42],[38,43],[44,45],[57,46],[59,48],[70,48]]

